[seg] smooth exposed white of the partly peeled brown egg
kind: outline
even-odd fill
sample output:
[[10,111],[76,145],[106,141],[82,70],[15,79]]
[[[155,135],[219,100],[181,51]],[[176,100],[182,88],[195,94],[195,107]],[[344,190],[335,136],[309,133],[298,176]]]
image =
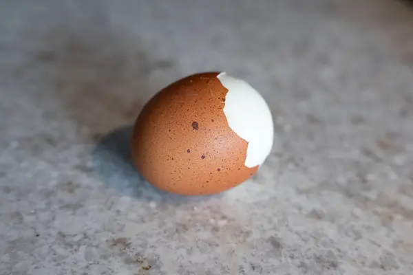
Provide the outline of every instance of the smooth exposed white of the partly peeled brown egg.
[[252,168],[263,164],[274,141],[273,116],[268,104],[244,80],[228,76],[225,72],[217,77],[228,89],[224,105],[226,120],[231,129],[248,142],[244,165]]

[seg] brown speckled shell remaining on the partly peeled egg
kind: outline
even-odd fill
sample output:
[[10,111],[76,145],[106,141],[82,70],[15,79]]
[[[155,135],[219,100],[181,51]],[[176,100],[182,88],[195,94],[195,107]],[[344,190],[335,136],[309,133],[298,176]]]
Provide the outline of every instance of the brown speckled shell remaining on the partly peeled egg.
[[180,195],[211,195],[251,177],[248,143],[228,125],[228,90],[218,72],[165,87],[142,109],[131,141],[136,168],[151,184]]

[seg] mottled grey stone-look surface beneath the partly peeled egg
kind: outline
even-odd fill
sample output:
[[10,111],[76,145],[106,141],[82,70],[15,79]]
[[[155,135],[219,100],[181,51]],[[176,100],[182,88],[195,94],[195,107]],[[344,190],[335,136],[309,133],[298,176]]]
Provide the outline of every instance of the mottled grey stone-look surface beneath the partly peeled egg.
[[[412,34],[390,0],[1,0],[0,274],[412,274]],[[160,192],[131,124],[213,69],[277,144],[221,195]]]

